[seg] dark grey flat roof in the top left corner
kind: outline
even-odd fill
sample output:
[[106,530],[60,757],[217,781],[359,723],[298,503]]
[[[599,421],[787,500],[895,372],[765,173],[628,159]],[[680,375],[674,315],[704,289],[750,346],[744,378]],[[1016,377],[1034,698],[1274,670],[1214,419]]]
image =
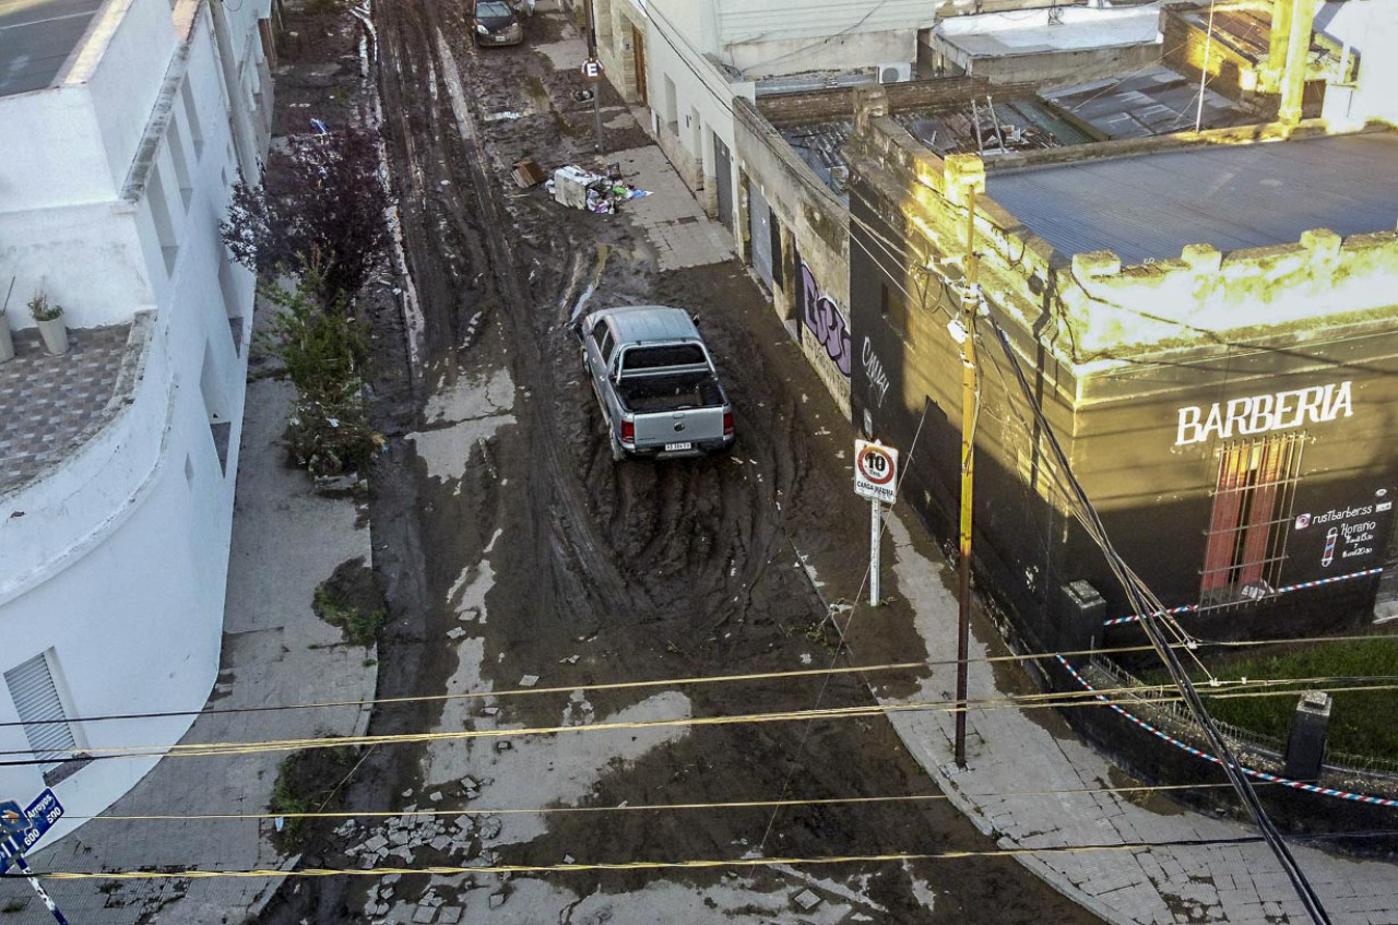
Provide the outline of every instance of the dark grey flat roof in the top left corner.
[[43,89],[105,0],[0,0],[0,96]]

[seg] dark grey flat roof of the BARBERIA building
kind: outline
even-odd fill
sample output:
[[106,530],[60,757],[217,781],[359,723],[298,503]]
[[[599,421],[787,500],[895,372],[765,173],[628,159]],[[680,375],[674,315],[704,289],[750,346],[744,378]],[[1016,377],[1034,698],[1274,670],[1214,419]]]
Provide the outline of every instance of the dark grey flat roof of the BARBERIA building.
[[1065,254],[1123,263],[1229,252],[1398,222],[1398,134],[1216,145],[991,173],[993,200]]

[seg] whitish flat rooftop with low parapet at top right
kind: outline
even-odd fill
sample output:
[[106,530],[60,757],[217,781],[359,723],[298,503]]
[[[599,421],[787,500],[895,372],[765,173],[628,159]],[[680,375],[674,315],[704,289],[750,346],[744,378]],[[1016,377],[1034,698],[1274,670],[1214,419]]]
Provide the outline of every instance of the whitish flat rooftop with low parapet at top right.
[[1160,4],[1107,10],[1057,7],[951,17],[938,22],[932,35],[972,57],[1155,45],[1160,41]]

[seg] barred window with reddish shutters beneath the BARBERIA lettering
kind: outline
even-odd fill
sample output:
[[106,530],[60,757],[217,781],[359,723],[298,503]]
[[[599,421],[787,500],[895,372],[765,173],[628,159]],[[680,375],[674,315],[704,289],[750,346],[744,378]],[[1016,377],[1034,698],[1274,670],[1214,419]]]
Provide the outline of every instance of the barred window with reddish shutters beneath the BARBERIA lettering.
[[1220,447],[1202,605],[1251,601],[1278,587],[1304,444],[1304,433],[1288,433]]

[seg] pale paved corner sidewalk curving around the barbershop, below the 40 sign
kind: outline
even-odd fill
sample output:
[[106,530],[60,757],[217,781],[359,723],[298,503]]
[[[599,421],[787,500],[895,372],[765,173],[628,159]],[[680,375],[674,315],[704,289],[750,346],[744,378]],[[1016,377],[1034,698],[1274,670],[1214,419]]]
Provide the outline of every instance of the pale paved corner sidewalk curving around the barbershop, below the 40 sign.
[[[916,612],[927,658],[956,658],[956,598],[942,581],[945,566],[913,548],[896,514],[888,517],[895,544],[898,590]],[[970,640],[970,657],[986,646]],[[969,697],[1000,690],[990,668],[973,664]],[[921,689],[902,700],[944,700],[955,689],[955,668],[939,665]],[[1255,830],[1172,806],[1166,813],[1104,792],[1110,763],[1076,736],[1055,736],[1021,710],[970,710],[966,770],[952,762],[953,714],[889,714],[907,748],[938,787],[976,826],[995,833],[1002,848],[1215,840]],[[1053,792],[1090,789],[1095,792]],[[1293,847],[1335,925],[1398,922],[1398,865],[1359,861]],[[1216,847],[1054,852],[1018,855],[1035,873],[1109,922],[1174,924],[1307,922],[1290,882],[1260,843]]]

